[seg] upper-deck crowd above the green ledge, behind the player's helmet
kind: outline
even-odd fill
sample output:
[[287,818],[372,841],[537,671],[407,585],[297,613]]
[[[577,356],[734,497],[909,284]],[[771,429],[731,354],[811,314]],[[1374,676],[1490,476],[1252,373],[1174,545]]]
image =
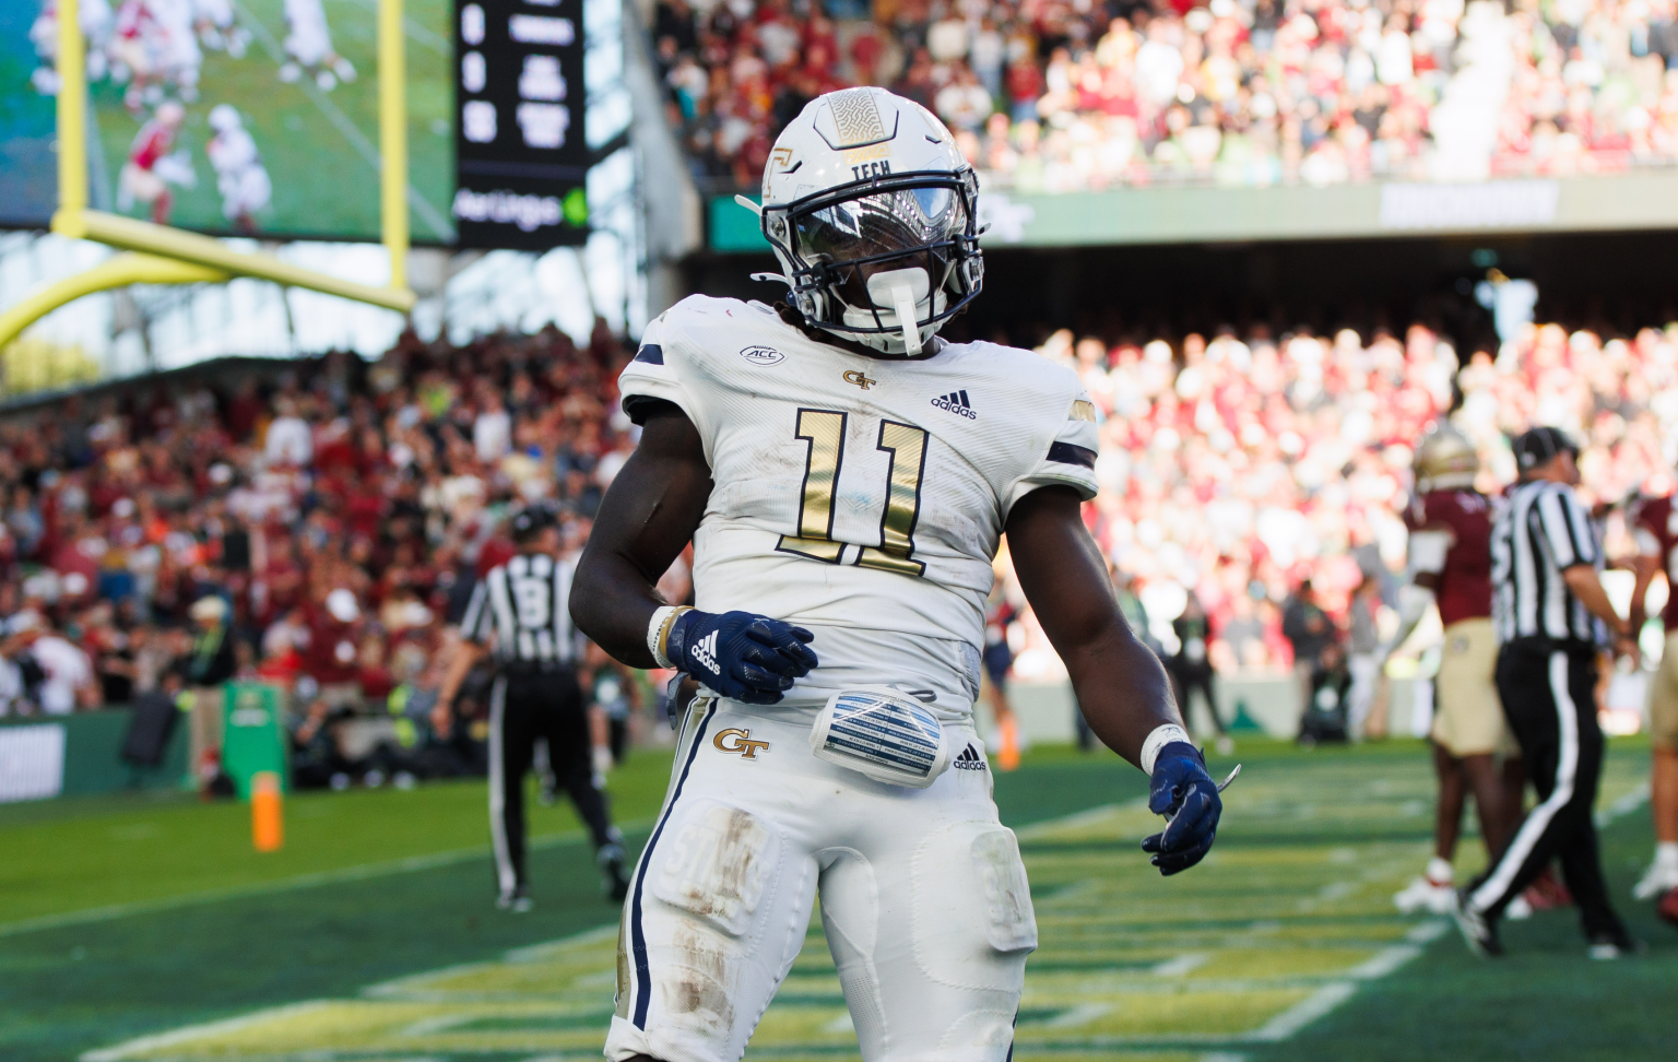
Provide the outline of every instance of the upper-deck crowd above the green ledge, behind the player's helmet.
[[1022,191],[1678,161],[1673,0],[658,0],[651,34],[695,168],[740,186],[849,84]]

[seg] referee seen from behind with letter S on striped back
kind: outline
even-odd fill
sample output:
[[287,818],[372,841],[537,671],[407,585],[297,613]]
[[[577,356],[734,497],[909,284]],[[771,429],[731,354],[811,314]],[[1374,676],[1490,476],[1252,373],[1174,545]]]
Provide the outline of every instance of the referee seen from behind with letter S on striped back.
[[571,624],[571,575],[559,559],[559,528],[540,510],[512,518],[519,554],[495,567],[472,591],[460,622],[461,641],[438,700],[450,705],[460,683],[493,643],[497,676],[490,691],[490,839],[495,847],[498,904],[530,909],[525,877],[524,780],[537,740],[547,740],[549,763],[571,794],[612,899],[628,893],[624,849],[606,814],[592,763],[589,716],[577,683],[577,633]]

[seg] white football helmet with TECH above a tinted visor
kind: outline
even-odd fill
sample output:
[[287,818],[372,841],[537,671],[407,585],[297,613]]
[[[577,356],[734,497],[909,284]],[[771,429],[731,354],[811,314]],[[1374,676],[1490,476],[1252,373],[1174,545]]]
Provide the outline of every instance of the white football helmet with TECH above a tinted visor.
[[775,138],[760,223],[810,325],[913,357],[978,295],[977,206],[973,168],[926,107],[842,89]]

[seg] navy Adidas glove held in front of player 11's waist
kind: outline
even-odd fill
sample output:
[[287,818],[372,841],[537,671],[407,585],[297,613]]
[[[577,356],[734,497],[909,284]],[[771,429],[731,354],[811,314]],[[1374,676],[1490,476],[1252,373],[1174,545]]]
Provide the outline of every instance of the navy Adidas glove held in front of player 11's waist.
[[664,656],[728,700],[774,705],[816,666],[816,636],[769,616],[700,612],[676,617]]

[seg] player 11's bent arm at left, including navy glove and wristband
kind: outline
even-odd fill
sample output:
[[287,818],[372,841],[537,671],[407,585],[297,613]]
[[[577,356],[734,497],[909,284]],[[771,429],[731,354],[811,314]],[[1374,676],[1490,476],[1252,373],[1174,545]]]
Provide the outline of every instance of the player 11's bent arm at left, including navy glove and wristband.
[[711,471],[693,421],[661,403],[612,480],[577,562],[571,614],[616,659],[678,666],[723,696],[774,705],[816,666],[812,634],[752,612],[722,616],[664,602],[658,577],[693,539]]

